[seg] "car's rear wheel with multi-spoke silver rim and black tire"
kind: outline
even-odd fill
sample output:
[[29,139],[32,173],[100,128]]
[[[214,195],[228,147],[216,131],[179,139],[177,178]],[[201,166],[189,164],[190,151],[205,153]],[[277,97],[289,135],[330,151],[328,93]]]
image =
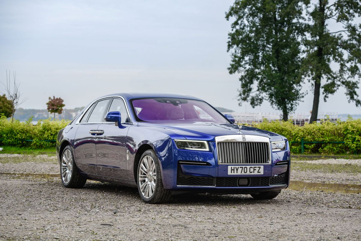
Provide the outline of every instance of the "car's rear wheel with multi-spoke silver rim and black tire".
[[87,181],[87,178],[80,175],[74,161],[73,151],[69,145],[64,148],[61,154],[60,178],[66,188],[82,188]]

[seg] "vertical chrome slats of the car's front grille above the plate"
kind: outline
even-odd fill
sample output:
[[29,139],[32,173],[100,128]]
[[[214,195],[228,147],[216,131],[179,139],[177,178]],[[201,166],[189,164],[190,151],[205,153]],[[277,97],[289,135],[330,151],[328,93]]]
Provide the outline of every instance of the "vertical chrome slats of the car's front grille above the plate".
[[269,164],[267,142],[217,142],[219,164]]

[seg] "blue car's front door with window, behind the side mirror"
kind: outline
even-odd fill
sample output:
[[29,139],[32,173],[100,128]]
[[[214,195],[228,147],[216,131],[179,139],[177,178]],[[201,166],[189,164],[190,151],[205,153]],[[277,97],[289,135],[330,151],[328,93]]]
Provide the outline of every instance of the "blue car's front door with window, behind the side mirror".
[[99,131],[104,131],[96,142],[98,172],[101,176],[127,179],[126,137],[131,123],[122,99],[113,98],[109,111],[119,111],[122,124],[120,128],[114,122],[98,126]]

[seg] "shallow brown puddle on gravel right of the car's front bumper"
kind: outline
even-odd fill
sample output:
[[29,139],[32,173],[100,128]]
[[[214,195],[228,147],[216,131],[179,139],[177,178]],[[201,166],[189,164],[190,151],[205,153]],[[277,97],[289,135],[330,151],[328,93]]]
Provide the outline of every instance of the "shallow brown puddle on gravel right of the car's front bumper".
[[290,189],[296,191],[325,191],[332,193],[361,193],[361,185],[291,181]]

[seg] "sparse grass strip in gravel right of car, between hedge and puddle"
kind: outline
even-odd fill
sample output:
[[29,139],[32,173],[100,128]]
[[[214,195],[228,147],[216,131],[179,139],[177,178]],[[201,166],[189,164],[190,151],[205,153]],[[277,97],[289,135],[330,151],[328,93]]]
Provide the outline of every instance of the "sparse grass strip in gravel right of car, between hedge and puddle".
[[291,169],[297,171],[319,171],[325,173],[361,173],[361,165],[356,164],[315,164],[292,162]]

